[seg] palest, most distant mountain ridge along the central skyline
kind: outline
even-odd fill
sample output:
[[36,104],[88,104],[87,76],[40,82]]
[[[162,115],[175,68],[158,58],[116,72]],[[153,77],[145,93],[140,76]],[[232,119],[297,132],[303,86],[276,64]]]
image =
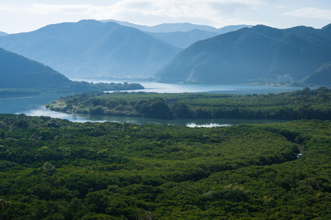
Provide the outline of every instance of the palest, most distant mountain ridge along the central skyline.
[[154,33],[159,33],[159,32],[167,33],[167,32],[177,32],[177,31],[186,32],[186,31],[198,29],[198,30],[217,32],[218,34],[223,34],[226,32],[238,30],[243,27],[252,27],[252,25],[240,24],[240,25],[228,25],[228,26],[221,27],[221,28],[215,28],[215,27],[209,26],[209,25],[191,24],[191,23],[164,23],[164,24],[158,24],[158,25],[154,25],[154,26],[146,26],[146,25],[134,24],[134,23],[130,23],[127,21],[119,21],[119,20],[114,20],[114,19],[107,19],[107,20],[100,20],[100,21],[101,22],[113,21],[113,22],[116,22],[123,26],[134,27],[139,30],[154,32]]

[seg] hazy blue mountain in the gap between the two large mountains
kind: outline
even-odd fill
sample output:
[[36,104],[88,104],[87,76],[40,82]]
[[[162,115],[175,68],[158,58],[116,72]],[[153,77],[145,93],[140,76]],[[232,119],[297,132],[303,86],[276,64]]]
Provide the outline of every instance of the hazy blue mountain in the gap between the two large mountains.
[[194,29],[190,31],[175,31],[175,32],[146,32],[156,39],[160,39],[168,44],[174,45],[179,48],[187,48],[191,44],[200,41],[200,40],[205,40],[207,38],[214,37],[218,35],[217,32],[209,32],[205,30],[199,30],[199,29]]

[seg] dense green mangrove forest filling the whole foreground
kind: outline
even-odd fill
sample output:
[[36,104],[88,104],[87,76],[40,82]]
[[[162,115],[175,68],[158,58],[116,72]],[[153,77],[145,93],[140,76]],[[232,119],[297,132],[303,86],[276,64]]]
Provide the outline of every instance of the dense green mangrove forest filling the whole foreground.
[[1,114],[0,219],[330,219],[330,161],[331,121],[188,128]]

